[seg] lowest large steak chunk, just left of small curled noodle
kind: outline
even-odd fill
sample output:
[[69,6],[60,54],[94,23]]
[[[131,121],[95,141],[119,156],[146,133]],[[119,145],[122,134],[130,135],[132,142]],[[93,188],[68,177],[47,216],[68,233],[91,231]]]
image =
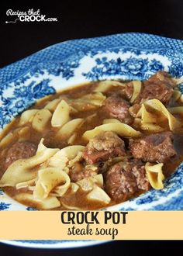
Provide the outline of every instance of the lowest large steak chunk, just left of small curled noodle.
[[105,175],[105,191],[116,202],[129,199],[141,190],[149,189],[150,183],[141,161],[119,162]]

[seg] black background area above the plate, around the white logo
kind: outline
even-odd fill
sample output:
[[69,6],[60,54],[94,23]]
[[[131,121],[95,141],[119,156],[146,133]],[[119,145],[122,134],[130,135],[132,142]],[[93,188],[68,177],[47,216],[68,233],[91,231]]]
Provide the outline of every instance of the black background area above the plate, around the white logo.
[[[183,39],[182,0],[35,2],[1,1],[0,67],[54,43],[76,38],[143,32]],[[6,24],[5,21],[16,17],[6,16],[8,9],[21,12],[40,9],[41,14],[57,17],[58,22],[17,21]]]

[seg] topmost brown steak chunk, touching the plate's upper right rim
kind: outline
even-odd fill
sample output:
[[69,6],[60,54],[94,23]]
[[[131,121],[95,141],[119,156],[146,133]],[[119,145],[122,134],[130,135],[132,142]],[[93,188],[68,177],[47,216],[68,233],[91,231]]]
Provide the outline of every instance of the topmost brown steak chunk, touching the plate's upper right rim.
[[[141,103],[147,99],[159,99],[163,104],[168,104],[174,92],[175,83],[165,71],[159,71],[143,82],[143,92],[139,99]],[[138,99],[137,99],[138,101]]]

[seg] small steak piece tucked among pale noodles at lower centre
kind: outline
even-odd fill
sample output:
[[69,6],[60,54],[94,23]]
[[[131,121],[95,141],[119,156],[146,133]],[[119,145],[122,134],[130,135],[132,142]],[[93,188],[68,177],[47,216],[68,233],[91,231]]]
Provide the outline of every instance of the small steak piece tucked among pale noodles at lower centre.
[[98,169],[92,167],[84,168],[82,164],[76,163],[74,167],[69,171],[69,176],[71,178],[71,182],[79,182],[83,178],[89,178],[94,175],[97,175]]

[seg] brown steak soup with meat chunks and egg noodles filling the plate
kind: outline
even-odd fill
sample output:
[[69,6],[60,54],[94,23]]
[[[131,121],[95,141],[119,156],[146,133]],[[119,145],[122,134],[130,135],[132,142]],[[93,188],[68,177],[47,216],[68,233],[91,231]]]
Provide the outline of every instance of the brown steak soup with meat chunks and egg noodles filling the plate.
[[183,160],[178,81],[95,81],[49,95],[5,127],[0,187],[36,209],[101,209],[150,189]]

